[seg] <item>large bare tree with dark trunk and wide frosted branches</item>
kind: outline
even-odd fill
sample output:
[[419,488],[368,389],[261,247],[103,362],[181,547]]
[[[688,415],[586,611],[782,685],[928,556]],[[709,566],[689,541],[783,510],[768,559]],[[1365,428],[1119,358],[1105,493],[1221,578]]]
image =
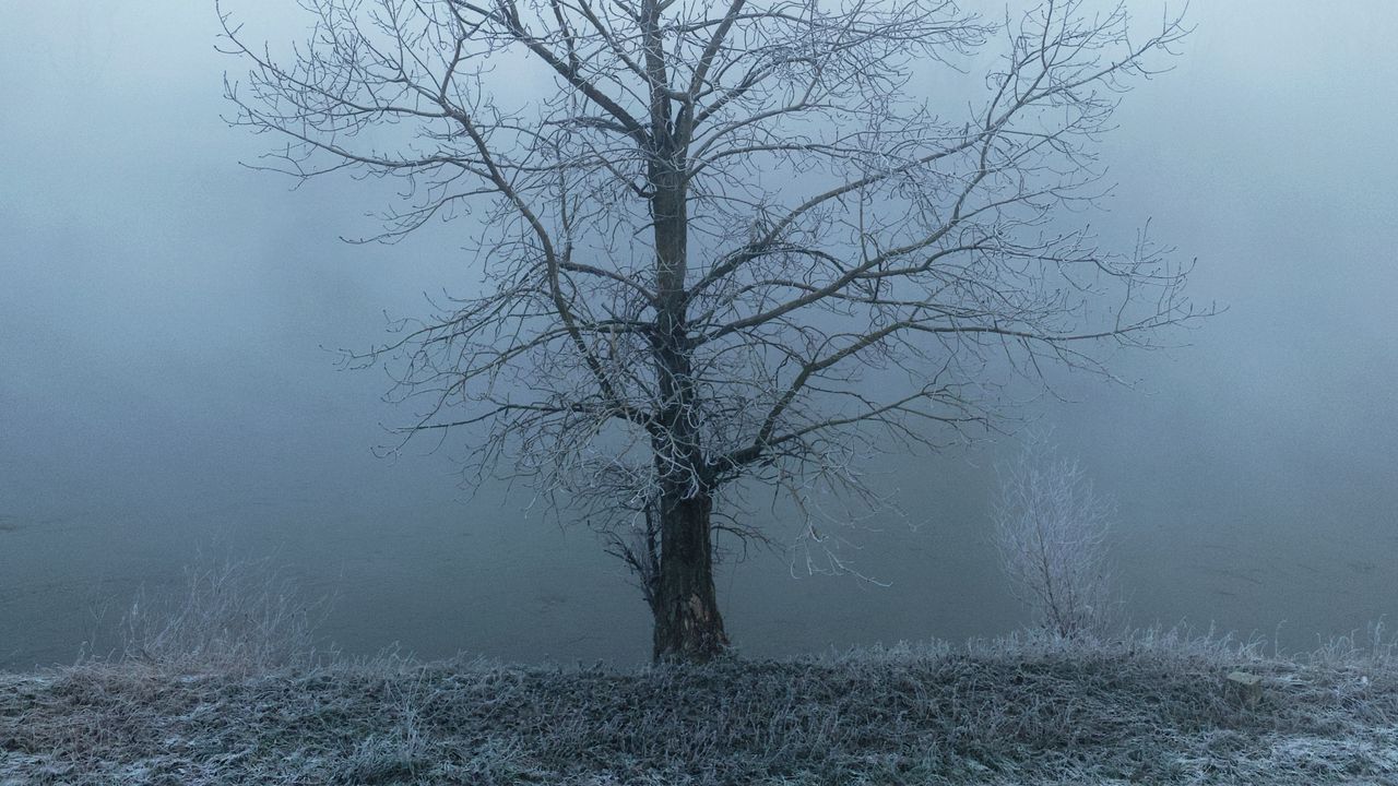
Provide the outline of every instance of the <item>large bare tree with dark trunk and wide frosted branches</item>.
[[[995,358],[1106,373],[1093,347],[1198,316],[1160,249],[1055,221],[1100,196],[1096,140],[1177,18],[1134,38],[1124,4],[1081,0],[1004,22],[914,0],[302,4],[315,31],[284,57],[219,10],[249,67],[232,122],[285,140],[264,165],[294,176],[400,178],[377,239],[467,217],[485,276],[361,359],[398,359],[405,432],[460,429],[473,471],[608,533],[656,657],[726,648],[714,533],[765,536],[745,494],[858,502],[874,449],[994,422]],[[956,98],[934,106],[939,74]]]

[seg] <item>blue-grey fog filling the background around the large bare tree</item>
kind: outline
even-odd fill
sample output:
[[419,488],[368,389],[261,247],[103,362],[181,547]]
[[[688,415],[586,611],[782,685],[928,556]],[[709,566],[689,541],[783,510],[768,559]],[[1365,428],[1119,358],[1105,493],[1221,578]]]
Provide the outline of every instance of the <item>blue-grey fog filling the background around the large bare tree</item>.
[[[527,490],[463,490],[450,442],[373,455],[411,413],[334,350],[477,270],[457,225],[340,242],[373,232],[391,186],[292,189],[240,165],[270,140],[221,119],[240,66],[214,52],[211,6],[0,6],[0,667],[103,646],[137,587],[199,552],[270,557],[333,593],[326,634],[348,652],[643,659],[647,610],[589,530]],[[270,38],[305,32],[281,3],[229,7]],[[1398,7],[1190,18],[1174,70],[1124,97],[1103,144],[1117,189],[1088,218],[1116,238],[1149,221],[1198,259],[1194,299],[1227,310],[1114,358],[1134,385],[1061,375],[1023,414],[1117,499],[1132,621],[1311,646],[1398,611]],[[994,463],[1016,450],[874,467],[907,512],[853,536],[878,585],[781,552],[724,565],[734,642],[1021,625],[986,537]]]

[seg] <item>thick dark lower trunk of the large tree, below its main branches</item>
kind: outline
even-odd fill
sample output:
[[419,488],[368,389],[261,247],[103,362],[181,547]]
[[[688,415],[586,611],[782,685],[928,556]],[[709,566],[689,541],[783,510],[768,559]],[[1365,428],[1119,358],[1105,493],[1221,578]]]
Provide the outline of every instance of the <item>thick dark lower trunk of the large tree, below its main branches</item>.
[[660,576],[656,587],[656,660],[710,660],[728,646],[713,587],[707,495],[661,502]]

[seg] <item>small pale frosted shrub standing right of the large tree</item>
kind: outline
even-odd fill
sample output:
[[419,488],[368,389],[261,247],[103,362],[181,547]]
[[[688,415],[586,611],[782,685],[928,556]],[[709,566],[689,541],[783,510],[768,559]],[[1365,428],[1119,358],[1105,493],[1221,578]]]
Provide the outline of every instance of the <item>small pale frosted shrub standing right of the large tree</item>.
[[1109,622],[1113,512],[1078,462],[1043,443],[1000,469],[995,545],[1015,597],[1044,629],[1075,638]]

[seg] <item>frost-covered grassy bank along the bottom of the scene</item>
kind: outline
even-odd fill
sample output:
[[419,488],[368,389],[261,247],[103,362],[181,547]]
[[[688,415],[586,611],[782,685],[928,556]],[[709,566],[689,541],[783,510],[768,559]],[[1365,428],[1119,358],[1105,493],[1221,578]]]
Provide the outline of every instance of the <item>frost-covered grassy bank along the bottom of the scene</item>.
[[0,674],[18,783],[1398,783],[1398,667],[1158,632],[637,670],[92,662]]

